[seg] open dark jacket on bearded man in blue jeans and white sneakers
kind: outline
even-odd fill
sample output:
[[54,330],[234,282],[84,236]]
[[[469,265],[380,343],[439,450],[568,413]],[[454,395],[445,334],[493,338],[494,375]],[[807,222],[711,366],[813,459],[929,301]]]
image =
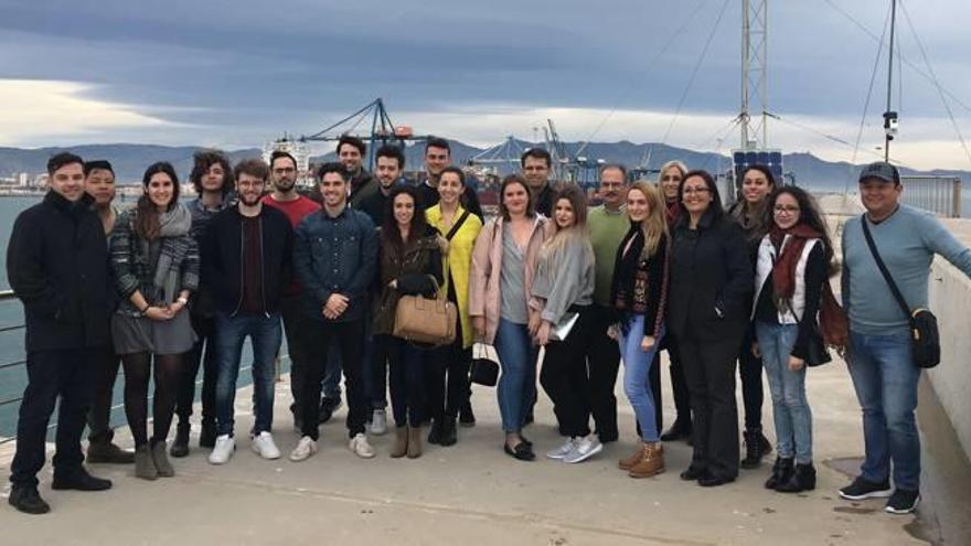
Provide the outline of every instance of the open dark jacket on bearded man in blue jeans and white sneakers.
[[[294,231],[282,212],[264,205],[259,213],[263,242],[263,306],[277,313],[280,297],[292,280]],[[216,309],[235,314],[243,301],[243,215],[234,206],[210,222],[203,237],[202,277],[213,291]]]

